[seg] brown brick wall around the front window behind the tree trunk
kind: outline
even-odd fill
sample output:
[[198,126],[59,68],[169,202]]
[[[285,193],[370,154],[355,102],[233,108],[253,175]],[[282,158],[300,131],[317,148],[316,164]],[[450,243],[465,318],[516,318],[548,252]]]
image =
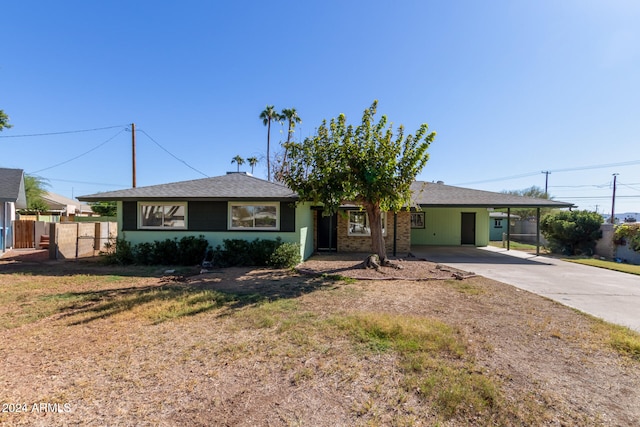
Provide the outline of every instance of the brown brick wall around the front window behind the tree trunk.
[[[349,236],[349,219],[338,214],[338,252],[371,252],[371,237],[369,236]],[[397,214],[396,254],[406,255],[411,249],[411,213],[401,211]],[[387,234],[384,237],[387,253],[393,253],[393,213],[387,212]]]

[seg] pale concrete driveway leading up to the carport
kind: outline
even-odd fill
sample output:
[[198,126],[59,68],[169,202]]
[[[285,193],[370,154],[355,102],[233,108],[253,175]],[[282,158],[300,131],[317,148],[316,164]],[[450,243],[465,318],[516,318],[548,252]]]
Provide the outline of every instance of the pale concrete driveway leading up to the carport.
[[640,332],[640,276],[492,246],[416,246],[411,251]]

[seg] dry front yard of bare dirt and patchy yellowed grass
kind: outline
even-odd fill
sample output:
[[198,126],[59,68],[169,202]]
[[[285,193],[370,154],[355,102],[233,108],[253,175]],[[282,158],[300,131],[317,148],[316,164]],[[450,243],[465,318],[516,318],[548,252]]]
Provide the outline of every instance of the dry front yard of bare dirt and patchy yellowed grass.
[[425,260],[201,272],[13,255],[2,425],[640,425],[637,334]]

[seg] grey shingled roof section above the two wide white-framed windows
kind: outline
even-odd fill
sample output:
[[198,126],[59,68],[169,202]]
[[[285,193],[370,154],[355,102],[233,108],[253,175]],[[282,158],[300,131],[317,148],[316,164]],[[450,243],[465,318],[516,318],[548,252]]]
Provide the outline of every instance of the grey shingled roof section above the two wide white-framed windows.
[[296,200],[288,187],[244,173],[193,181],[129,188],[78,197],[78,200]]

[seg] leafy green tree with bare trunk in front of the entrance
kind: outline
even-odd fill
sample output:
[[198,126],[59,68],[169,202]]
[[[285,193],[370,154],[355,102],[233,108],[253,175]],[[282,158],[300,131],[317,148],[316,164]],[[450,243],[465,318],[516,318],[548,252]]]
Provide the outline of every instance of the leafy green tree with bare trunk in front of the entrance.
[[344,114],[322,122],[313,137],[290,144],[289,168],[283,181],[301,201],[322,203],[333,214],[345,202],[366,210],[371,230],[371,249],[388,264],[382,230],[382,212],[397,212],[411,202],[411,183],[425,166],[427,149],[435,132],[422,124],[415,136],[394,136],[387,117],[375,123],[378,102],[364,110],[362,123],[347,125]]

